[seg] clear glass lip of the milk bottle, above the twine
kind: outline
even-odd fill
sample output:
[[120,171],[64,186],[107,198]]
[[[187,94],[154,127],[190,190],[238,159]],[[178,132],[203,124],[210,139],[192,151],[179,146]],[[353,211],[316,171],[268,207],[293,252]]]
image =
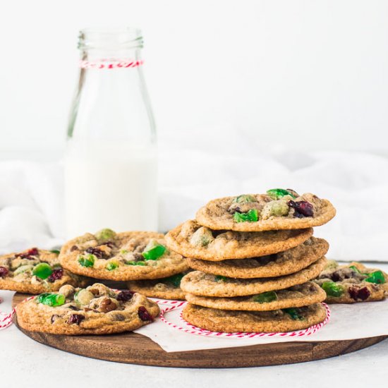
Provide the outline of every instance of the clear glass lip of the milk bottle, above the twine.
[[78,49],[138,49],[143,48],[139,28],[83,28],[78,34]]

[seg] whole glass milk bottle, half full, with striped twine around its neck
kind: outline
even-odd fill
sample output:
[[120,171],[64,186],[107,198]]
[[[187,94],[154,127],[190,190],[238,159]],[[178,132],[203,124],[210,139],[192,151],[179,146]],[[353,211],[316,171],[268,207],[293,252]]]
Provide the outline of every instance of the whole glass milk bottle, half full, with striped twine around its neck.
[[65,158],[67,238],[157,230],[157,142],[140,30],[83,30]]

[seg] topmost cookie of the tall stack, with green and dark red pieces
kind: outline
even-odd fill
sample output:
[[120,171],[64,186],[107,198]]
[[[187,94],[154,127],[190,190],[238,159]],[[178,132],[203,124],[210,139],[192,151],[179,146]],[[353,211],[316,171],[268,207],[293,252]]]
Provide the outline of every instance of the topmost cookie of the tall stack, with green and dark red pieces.
[[265,194],[244,194],[212,200],[198,210],[202,226],[232,231],[305,229],[326,224],[336,210],[317,195],[274,188]]

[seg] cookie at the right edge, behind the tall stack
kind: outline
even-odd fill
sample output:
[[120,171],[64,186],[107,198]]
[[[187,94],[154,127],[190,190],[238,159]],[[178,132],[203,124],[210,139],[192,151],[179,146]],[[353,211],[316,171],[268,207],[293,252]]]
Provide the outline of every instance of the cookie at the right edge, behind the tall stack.
[[334,260],[315,280],[327,293],[327,303],[381,301],[388,296],[388,275],[359,262],[339,265]]

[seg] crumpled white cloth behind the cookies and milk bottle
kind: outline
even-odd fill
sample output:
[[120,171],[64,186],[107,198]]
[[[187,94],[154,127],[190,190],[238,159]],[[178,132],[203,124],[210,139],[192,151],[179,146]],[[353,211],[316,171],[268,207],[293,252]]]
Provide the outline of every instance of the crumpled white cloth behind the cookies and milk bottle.
[[[315,229],[330,243],[327,257],[388,261],[388,158],[281,147],[269,152],[237,135],[200,147],[203,136],[190,144],[176,138],[159,144],[160,231],[193,218],[212,198],[293,188],[328,198],[337,208],[331,222]],[[0,162],[0,187],[0,253],[65,241],[61,162]]]

